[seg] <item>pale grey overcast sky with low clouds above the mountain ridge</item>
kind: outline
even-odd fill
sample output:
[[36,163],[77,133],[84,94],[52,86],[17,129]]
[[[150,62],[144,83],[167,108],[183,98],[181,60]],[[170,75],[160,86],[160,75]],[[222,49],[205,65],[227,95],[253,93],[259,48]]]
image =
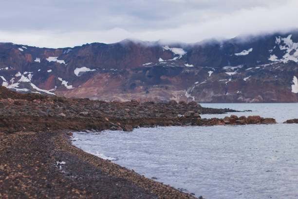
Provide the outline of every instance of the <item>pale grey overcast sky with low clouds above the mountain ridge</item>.
[[298,28],[298,0],[1,0],[0,42],[197,42]]

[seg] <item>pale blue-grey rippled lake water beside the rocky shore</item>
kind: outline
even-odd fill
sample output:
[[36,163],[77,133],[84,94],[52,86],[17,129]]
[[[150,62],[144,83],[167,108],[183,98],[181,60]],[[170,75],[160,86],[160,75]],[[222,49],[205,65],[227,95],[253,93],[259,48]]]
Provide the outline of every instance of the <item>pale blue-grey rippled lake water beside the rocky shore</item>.
[[[232,114],[272,117],[278,122],[298,118],[298,103],[202,106],[249,109],[252,112]],[[75,132],[73,144],[205,199],[298,198],[298,124]]]

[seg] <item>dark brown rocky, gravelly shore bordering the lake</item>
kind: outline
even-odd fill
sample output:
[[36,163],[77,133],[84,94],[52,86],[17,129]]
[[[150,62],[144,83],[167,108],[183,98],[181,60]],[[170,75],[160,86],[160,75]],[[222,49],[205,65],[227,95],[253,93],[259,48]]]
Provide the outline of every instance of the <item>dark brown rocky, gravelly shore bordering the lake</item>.
[[235,110],[204,108],[184,101],[67,99],[19,94],[0,86],[0,198],[194,198],[85,153],[71,145],[70,131],[276,123],[260,116],[200,116],[226,112]]

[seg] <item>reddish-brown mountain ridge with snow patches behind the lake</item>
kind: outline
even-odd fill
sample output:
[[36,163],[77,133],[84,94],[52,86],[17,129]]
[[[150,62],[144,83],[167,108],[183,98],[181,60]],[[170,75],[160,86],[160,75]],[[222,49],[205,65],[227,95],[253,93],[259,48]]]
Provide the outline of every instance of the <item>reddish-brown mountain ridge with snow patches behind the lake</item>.
[[0,84],[94,100],[298,102],[298,32],[194,44],[0,43]]

